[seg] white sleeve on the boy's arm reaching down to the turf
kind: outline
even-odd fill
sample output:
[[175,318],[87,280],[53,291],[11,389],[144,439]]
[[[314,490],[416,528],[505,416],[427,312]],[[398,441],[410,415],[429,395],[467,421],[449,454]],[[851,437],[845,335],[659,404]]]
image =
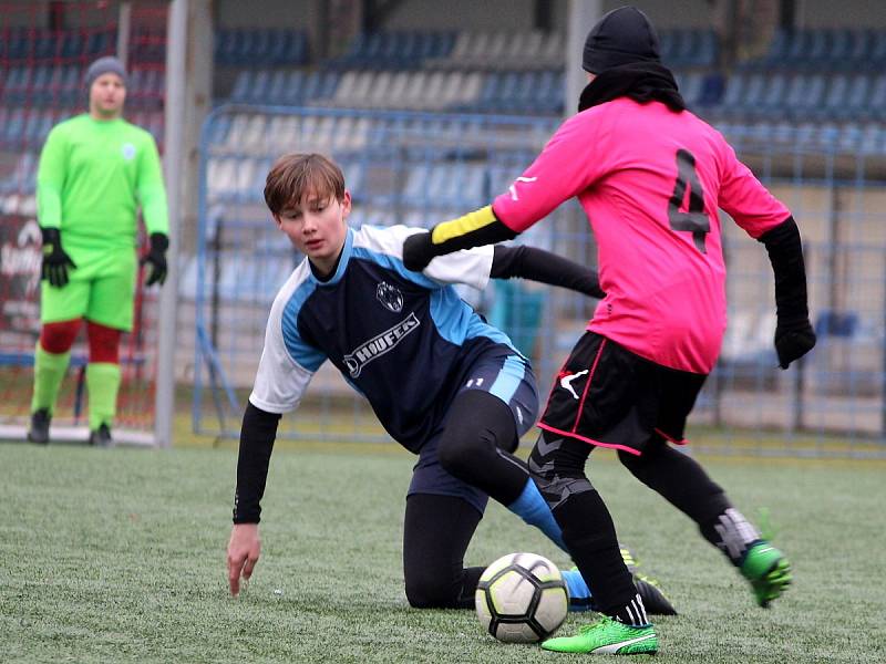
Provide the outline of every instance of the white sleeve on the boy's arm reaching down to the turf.
[[249,395],[254,406],[268,413],[287,413],[298,407],[313,377],[313,372],[292,359],[284,342],[282,313],[291,292],[292,288],[288,282],[274,301],[265,330],[265,349],[261,351],[256,382]]

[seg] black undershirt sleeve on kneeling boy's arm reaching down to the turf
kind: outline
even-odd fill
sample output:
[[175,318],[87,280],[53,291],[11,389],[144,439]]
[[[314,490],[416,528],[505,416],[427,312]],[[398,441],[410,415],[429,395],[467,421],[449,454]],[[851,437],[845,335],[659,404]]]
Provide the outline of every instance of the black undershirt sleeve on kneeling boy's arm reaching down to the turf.
[[235,523],[258,523],[260,520],[260,502],[265,495],[270,453],[274,450],[279,422],[278,413],[268,413],[251,403],[247,404],[240,428],[240,454],[237,458]]

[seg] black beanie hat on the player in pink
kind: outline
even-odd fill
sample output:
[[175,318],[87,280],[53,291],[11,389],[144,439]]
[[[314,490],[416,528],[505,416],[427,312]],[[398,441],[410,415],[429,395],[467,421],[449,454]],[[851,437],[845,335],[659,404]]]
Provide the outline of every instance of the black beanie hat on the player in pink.
[[660,62],[658,34],[636,7],[620,7],[602,17],[588,32],[581,68],[591,74],[620,64]]

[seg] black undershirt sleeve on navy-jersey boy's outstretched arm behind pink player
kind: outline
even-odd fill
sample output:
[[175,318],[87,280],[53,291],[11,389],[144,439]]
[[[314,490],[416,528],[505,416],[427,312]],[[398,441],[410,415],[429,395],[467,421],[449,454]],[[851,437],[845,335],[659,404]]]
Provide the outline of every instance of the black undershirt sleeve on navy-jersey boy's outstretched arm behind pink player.
[[550,251],[525,245],[517,247],[496,245],[490,277],[493,279],[519,277],[568,288],[593,298],[606,297],[595,270]]

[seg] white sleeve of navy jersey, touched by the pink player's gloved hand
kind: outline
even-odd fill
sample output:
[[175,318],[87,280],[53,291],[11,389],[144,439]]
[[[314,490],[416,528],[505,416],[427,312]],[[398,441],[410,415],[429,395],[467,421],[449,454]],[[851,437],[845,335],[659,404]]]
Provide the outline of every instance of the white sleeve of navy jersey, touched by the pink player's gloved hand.
[[[364,226],[361,235],[370,248],[403,260],[403,241],[411,235],[424,232],[422,228],[408,226],[391,226],[389,228],[374,228]],[[374,247],[371,247],[374,245]],[[474,247],[463,249],[446,256],[437,256],[422,271],[429,279],[437,283],[464,283],[483,290],[490,282],[492,270],[493,247]],[[405,268],[403,268],[405,270]]]

